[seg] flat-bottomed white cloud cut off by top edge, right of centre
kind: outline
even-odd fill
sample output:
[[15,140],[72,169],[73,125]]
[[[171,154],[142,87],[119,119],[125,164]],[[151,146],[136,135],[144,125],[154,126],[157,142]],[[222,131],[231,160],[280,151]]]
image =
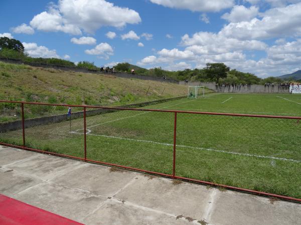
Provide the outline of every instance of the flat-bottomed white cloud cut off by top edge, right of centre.
[[150,0],[166,7],[191,11],[220,11],[234,5],[234,0]]

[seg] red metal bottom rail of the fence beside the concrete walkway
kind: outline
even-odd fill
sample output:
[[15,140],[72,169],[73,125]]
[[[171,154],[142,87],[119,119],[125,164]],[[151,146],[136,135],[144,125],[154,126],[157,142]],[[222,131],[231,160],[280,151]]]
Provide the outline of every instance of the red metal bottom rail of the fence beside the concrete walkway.
[[148,170],[144,170],[144,169],[124,166],[124,165],[118,165],[118,164],[108,163],[108,162],[103,162],[103,161],[91,160],[91,159],[86,159],[85,160],[84,158],[75,157],[75,156],[71,156],[71,155],[59,154],[59,153],[54,153],[54,152],[50,152],[50,151],[43,151],[43,150],[39,150],[39,149],[35,149],[35,148],[23,147],[23,146],[18,146],[18,145],[14,145],[14,144],[7,144],[7,143],[3,143],[3,142],[0,142],[0,145],[6,145],[6,146],[15,147],[15,148],[21,148],[21,149],[26,149],[26,150],[30,150],[30,151],[36,151],[36,152],[41,152],[41,153],[46,153],[46,154],[51,154],[51,155],[56,155],[56,156],[61,156],[61,157],[73,158],[73,159],[78,159],[78,160],[93,162],[93,163],[98,163],[98,164],[116,166],[116,167],[120,167],[120,168],[134,170],[134,171],[146,172],[146,173],[160,175],[160,176],[166,176],[166,177],[170,177],[170,178],[182,179],[182,180],[186,180],[186,181],[197,182],[197,183],[202,183],[202,184],[211,185],[211,186],[217,186],[217,187],[223,187],[223,188],[232,189],[232,190],[238,190],[238,191],[253,193],[253,194],[257,194],[257,195],[277,197],[277,198],[281,198],[281,199],[301,203],[301,199],[294,198],[294,197],[289,197],[289,196],[283,196],[283,195],[278,195],[278,194],[261,192],[261,191],[257,191],[257,190],[250,190],[250,189],[245,189],[245,188],[240,188],[240,187],[235,187],[235,186],[229,186],[229,185],[224,185],[224,184],[218,184],[218,183],[213,183],[213,182],[208,182],[208,181],[203,181],[203,180],[198,180],[198,179],[191,179],[191,178],[182,177],[182,176],[173,177],[173,175],[165,174],[165,173],[161,173],[161,172],[148,171]]

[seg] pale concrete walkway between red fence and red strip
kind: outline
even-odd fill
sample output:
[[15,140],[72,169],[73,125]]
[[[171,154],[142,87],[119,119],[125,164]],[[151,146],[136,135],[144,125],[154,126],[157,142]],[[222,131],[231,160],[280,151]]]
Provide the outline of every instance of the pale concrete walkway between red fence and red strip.
[[301,224],[301,204],[4,146],[0,193],[86,224]]

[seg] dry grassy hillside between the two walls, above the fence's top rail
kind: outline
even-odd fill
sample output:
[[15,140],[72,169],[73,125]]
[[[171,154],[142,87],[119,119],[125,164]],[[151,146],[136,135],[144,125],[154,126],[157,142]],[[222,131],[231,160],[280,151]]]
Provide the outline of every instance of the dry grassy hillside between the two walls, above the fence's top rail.
[[[113,106],[183,96],[186,93],[186,86],[174,83],[0,62],[0,99]],[[3,112],[1,107],[4,108],[3,104],[0,105],[0,112]],[[15,106],[5,107],[14,109]],[[7,120],[1,117],[2,121]]]

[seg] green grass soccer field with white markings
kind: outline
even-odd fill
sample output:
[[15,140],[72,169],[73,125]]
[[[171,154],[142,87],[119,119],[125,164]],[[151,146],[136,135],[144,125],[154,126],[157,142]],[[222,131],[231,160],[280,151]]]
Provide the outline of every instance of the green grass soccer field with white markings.
[[[301,96],[211,93],[145,108],[301,116]],[[66,110],[67,111],[67,110]],[[83,118],[26,129],[26,142],[83,157]],[[120,110],[87,117],[87,156],[172,173],[174,113]],[[178,113],[176,174],[301,198],[301,121]],[[21,144],[21,131],[1,133]]]

